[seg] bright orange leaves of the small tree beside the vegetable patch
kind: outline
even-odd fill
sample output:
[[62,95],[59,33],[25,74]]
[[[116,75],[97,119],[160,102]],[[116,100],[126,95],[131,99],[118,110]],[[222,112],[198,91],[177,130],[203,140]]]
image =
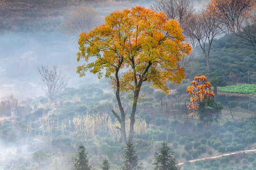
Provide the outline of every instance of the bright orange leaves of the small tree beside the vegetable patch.
[[[199,85],[201,84],[201,85]],[[205,97],[214,97],[214,93],[210,92],[210,83],[206,81],[205,76],[195,76],[191,82],[192,86],[187,87],[187,93],[189,93],[190,102],[188,103],[188,109],[197,112],[199,102],[202,102]],[[195,116],[194,113],[189,115]],[[198,115],[196,114],[198,119]]]

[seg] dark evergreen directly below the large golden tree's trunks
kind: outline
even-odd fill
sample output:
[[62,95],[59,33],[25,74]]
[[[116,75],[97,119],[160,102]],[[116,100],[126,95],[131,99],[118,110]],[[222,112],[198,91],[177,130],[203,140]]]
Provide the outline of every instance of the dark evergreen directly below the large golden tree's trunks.
[[138,164],[138,153],[130,141],[125,147],[123,156],[124,165],[121,167],[122,170],[142,170],[141,165]]

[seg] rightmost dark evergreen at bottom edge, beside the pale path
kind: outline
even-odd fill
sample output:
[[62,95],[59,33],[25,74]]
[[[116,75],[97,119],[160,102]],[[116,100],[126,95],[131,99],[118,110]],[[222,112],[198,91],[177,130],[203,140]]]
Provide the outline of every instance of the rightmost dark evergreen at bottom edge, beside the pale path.
[[171,151],[170,146],[163,142],[159,148],[159,153],[155,153],[155,170],[180,170],[178,163],[173,157],[174,152]]

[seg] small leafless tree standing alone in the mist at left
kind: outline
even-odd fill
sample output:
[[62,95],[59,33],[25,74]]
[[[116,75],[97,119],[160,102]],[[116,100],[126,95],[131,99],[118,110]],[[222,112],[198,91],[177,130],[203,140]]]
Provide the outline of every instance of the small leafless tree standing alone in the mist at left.
[[53,70],[48,67],[42,66],[37,68],[41,75],[42,82],[40,83],[42,90],[46,93],[47,97],[52,100],[53,96],[64,89],[68,83],[68,77],[62,76],[61,71],[57,71],[57,66],[53,66]]

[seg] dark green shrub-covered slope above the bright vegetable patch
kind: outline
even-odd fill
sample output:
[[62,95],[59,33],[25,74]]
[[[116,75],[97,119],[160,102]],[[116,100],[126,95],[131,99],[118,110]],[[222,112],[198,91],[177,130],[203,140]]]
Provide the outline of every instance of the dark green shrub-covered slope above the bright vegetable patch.
[[[225,34],[212,43],[210,51],[210,69],[200,48],[187,68],[186,78],[194,75],[206,75],[210,78],[222,78],[227,85],[247,82],[247,71],[256,72],[256,51],[244,44],[244,40],[232,34]],[[250,84],[255,84],[255,76],[250,77]]]

